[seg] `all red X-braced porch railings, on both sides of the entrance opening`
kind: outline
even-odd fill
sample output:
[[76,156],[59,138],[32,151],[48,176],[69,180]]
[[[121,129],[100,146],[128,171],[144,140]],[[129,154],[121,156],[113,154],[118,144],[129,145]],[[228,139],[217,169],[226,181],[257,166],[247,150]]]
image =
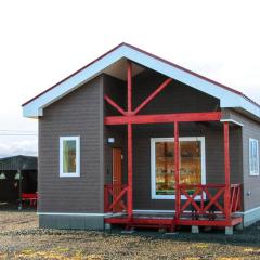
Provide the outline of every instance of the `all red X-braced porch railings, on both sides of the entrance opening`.
[[[225,216],[224,184],[180,184],[181,196],[180,217],[191,216],[198,219],[200,216],[214,220],[217,216]],[[230,186],[230,213],[239,211],[242,208],[242,185]],[[106,184],[104,190],[105,212],[127,211],[128,186]]]

